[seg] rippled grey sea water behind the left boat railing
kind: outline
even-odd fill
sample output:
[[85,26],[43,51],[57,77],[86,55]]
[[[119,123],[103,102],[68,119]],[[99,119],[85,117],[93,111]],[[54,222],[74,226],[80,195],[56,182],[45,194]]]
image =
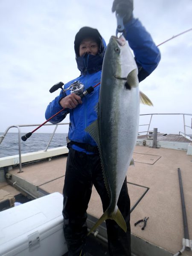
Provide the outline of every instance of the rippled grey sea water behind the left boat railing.
[[[0,133],[3,135],[3,133]],[[21,133],[21,136],[25,133]],[[26,141],[21,140],[21,154],[45,150],[52,134],[49,133],[34,133]],[[55,133],[52,138],[49,148],[56,148],[60,146],[66,146],[67,134]],[[15,154],[19,154],[18,134],[7,133],[6,137],[0,144],[0,157],[8,157]]]

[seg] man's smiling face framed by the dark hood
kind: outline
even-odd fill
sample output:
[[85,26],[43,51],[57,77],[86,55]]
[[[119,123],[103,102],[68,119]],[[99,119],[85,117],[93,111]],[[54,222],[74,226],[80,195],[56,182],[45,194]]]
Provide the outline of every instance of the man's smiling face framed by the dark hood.
[[79,46],[79,56],[87,54],[96,55],[99,51],[99,46],[93,38],[85,38]]

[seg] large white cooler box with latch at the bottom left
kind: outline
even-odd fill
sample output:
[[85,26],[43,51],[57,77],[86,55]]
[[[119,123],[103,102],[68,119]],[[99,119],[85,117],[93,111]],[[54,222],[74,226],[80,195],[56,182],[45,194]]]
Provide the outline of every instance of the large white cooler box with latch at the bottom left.
[[63,195],[53,193],[0,212],[0,256],[62,256]]

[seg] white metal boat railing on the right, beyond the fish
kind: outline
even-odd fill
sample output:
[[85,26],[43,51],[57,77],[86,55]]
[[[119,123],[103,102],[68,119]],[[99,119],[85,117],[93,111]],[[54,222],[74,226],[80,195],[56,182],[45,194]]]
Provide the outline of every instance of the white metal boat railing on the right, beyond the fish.
[[147,131],[139,131],[139,134],[146,133],[146,135],[148,135],[148,133],[150,132],[150,125],[151,125],[152,117],[156,116],[156,115],[182,115],[183,116],[183,130],[184,130],[184,132],[179,131],[179,135],[181,134],[184,137],[189,137],[190,139],[192,139],[192,135],[186,134],[186,127],[192,129],[192,119],[191,119],[191,126],[186,125],[186,116],[191,116],[192,117],[192,114],[186,114],[186,113],[151,113],[151,114],[140,114],[140,116],[150,116],[150,120],[149,120],[149,123],[147,123],[147,124],[139,125],[139,126],[147,126]]

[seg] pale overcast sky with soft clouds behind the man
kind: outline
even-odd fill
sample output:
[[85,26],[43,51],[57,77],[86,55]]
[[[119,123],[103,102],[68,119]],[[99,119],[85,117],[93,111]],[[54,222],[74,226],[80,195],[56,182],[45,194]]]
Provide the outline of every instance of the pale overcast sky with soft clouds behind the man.
[[[0,0],[0,132],[11,125],[45,121],[47,105],[59,94],[59,90],[49,93],[50,87],[80,74],[73,44],[76,32],[82,26],[97,28],[107,43],[115,35],[112,3]],[[192,28],[192,0],[135,0],[134,16],[158,45]],[[140,83],[154,107],[141,105],[140,113],[192,113],[192,31],[159,48],[159,66]],[[183,131],[182,120],[182,116],[154,119],[151,128],[165,133]],[[191,117],[187,121],[190,125]],[[67,132],[68,128],[61,127],[58,131]],[[40,128],[38,132],[52,130]]]

